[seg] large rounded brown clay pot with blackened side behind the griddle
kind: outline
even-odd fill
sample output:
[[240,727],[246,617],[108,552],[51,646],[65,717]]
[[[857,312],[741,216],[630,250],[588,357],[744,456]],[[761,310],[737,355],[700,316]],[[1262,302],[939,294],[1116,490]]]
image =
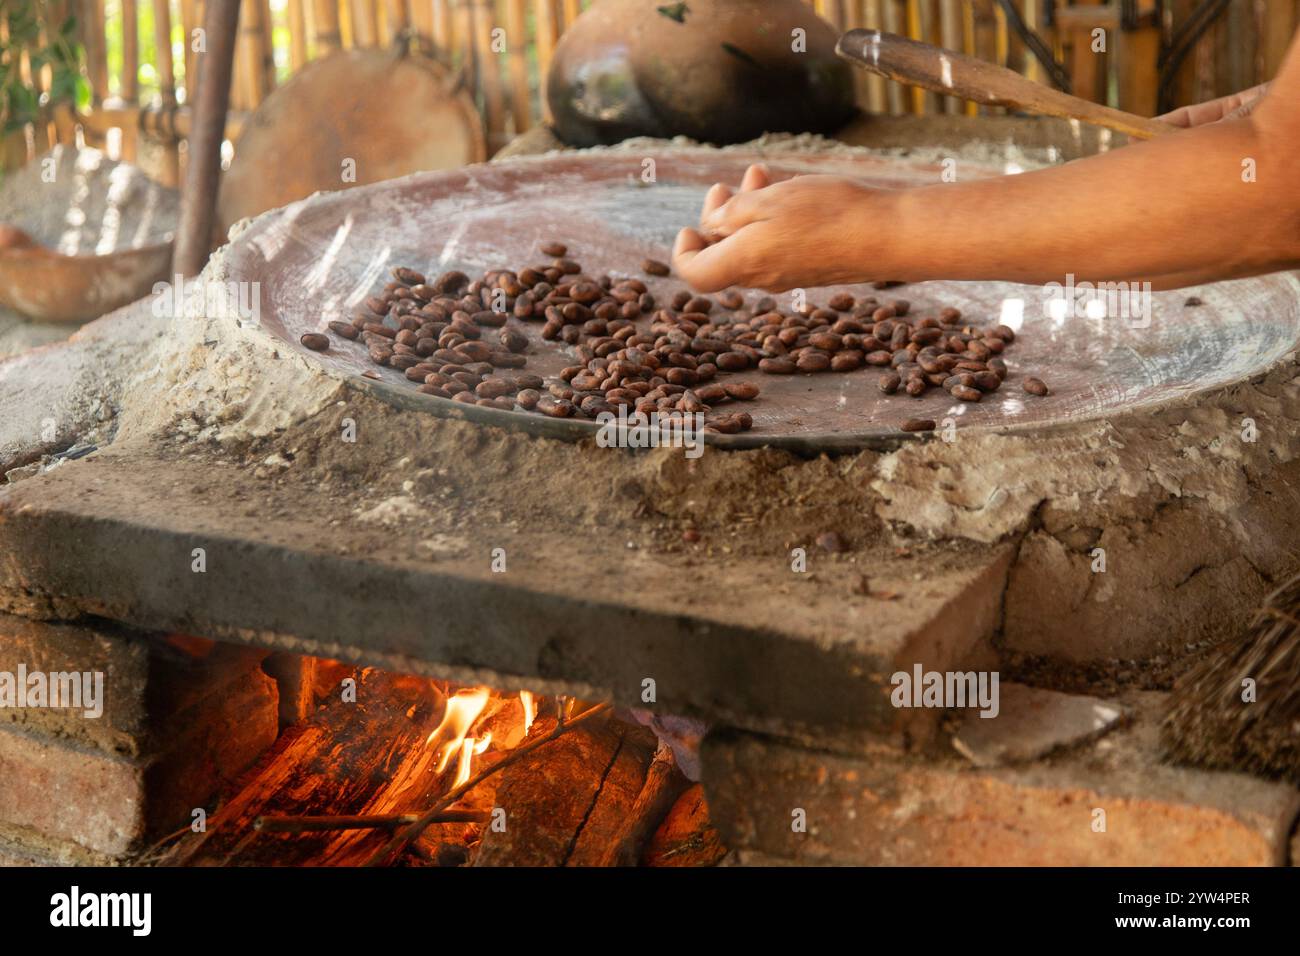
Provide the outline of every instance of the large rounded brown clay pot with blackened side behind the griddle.
[[832,133],[854,112],[836,39],[802,0],[601,0],[560,39],[546,100],[571,146]]

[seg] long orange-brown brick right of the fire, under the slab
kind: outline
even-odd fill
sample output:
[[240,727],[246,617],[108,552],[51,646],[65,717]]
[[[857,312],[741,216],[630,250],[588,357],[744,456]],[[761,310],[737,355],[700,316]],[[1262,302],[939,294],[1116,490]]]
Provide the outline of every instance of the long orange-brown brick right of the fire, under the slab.
[[[849,757],[720,732],[703,745],[705,792],[723,842],[802,864],[1280,865],[1300,793],[1245,774],[1160,762],[1164,695],[1083,749],[979,769],[901,753]],[[1095,832],[1093,810],[1105,810]],[[806,813],[794,832],[792,812]]]

